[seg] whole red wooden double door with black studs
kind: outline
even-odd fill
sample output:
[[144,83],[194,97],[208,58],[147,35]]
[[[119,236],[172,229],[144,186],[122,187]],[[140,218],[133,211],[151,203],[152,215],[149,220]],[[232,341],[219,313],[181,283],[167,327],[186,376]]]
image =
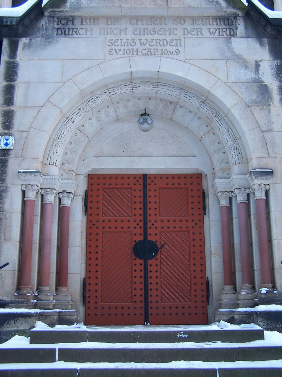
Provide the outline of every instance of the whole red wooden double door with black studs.
[[[144,234],[147,266],[133,254]],[[151,325],[207,323],[202,176],[89,175],[85,323],[142,325],[146,312]]]

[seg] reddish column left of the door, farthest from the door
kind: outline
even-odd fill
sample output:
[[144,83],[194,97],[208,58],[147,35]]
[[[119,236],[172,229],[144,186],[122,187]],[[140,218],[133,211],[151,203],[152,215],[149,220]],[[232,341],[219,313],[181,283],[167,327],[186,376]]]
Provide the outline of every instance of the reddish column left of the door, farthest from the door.
[[33,300],[34,293],[30,284],[33,218],[35,197],[36,193],[40,192],[40,189],[36,185],[22,185],[21,189],[24,191],[24,215],[21,239],[20,282],[17,290],[17,298]]

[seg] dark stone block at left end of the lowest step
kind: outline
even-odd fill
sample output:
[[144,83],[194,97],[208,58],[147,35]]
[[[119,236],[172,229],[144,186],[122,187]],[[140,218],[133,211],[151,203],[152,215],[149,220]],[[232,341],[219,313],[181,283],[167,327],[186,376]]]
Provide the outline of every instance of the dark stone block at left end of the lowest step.
[[5,369],[1,377],[77,377],[77,369]]

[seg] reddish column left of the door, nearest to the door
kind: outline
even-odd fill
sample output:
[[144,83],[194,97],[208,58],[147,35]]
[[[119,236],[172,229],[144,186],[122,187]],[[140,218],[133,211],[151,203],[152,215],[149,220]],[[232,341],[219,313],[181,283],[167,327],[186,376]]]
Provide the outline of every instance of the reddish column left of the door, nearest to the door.
[[[58,283],[54,299],[60,301],[55,307],[71,309],[71,294],[68,291],[68,233],[70,226],[70,206],[74,198],[71,192],[60,192],[60,244],[58,261]],[[64,303],[65,301],[65,303]]]

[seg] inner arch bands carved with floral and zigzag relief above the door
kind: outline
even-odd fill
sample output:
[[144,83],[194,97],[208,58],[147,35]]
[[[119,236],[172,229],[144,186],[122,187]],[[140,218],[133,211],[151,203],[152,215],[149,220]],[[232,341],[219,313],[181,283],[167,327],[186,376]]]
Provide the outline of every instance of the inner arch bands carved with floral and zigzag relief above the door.
[[171,83],[131,81],[96,92],[77,106],[54,135],[46,163],[64,170],[62,178],[73,178],[79,155],[94,134],[114,120],[143,112],[144,107],[195,133],[209,152],[217,178],[230,178],[230,167],[245,162],[238,136],[199,95]]

